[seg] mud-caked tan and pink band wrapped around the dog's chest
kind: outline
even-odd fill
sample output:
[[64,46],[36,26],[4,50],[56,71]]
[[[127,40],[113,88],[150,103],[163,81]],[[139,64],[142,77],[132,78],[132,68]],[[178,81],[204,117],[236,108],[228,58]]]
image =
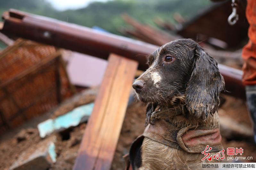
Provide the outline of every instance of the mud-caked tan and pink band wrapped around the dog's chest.
[[142,136],[189,153],[201,153],[207,145],[212,147],[211,152],[223,149],[219,128],[190,126],[175,129],[173,124],[158,120],[155,125],[149,124]]

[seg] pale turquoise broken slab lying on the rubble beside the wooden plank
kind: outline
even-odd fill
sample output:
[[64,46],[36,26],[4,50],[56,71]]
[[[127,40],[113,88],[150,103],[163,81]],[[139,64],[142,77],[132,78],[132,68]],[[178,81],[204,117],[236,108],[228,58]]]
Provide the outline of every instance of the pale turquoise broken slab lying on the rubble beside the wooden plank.
[[81,122],[86,122],[92,113],[93,107],[94,103],[82,105],[65,115],[39,123],[37,128],[39,130],[40,137],[44,138],[46,135],[51,134],[54,131],[63,131],[71,126],[77,126]]

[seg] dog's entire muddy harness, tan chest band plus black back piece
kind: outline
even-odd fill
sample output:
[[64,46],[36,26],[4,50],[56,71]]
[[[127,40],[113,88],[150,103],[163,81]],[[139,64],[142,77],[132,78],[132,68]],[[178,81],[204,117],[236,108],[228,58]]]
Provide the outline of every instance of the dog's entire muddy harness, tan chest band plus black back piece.
[[[174,113],[170,116],[176,116]],[[132,143],[129,152],[130,168],[136,169],[141,165],[140,149],[143,139],[147,137],[155,142],[167,145],[189,153],[201,153],[206,146],[212,147],[210,152],[218,152],[223,149],[219,126],[212,128],[211,125],[187,126],[178,128],[174,123],[163,119],[156,120],[155,124],[148,124],[144,133]]]

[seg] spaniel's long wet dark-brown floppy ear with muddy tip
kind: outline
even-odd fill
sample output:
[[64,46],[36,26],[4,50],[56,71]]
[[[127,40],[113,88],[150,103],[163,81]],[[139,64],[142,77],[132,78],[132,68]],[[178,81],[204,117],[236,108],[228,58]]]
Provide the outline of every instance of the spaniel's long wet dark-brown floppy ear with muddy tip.
[[225,82],[218,64],[202,47],[196,44],[194,66],[186,87],[186,107],[191,115],[205,120],[219,107],[219,93]]

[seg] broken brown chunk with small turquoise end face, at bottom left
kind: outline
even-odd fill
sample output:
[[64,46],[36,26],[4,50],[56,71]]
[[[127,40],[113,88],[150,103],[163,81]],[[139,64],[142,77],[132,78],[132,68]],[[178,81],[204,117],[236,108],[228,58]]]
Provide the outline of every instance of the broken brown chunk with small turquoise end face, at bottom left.
[[50,137],[35,144],[28,150],[21,153],[18,160],[15,161],[10,170],[45,170],[51,167],[56,162],[55,145],[56,137]]

